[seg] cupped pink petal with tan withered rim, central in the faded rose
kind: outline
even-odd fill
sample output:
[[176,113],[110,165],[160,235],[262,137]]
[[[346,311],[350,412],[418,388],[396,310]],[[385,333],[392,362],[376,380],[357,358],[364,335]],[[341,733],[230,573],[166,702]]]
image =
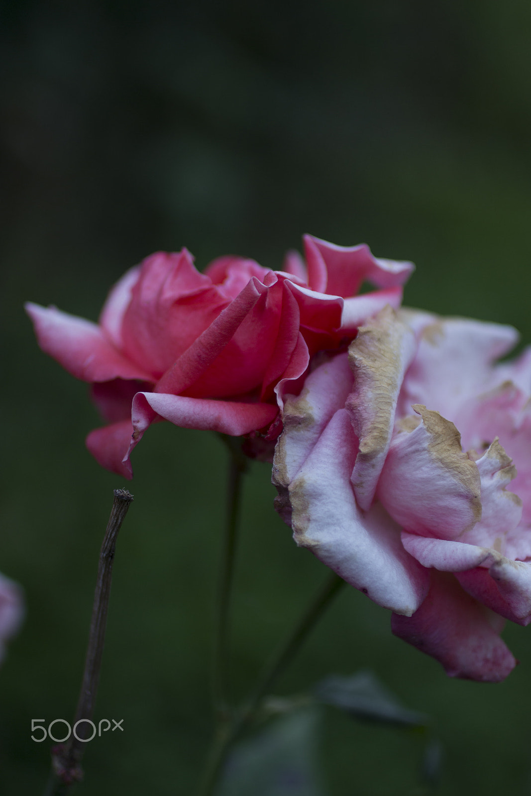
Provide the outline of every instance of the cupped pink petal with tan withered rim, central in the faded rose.
[[424,406],[413,408],[422,422],[393,439],[378,498],[405,530],[455,539],[481,518],[478,467],[461,450],[453,423]]

